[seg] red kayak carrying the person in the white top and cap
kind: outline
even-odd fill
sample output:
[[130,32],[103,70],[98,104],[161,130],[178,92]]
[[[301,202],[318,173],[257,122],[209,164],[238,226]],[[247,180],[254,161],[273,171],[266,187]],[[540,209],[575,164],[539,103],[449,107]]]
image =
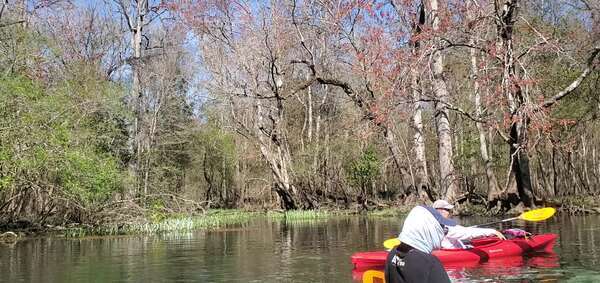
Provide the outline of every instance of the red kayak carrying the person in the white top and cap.
[[[527,252],[552,252],[556,234],[541,234],[528,238],[501,240],[496,237],[485,237],[471,240],[470,249],[441,249],[433,251],[444,264],[461,262],[485,262],[490,258],[518,256]],[[385,265],[387,251],[360,252],[352,255],[355,268],[368,269]]]

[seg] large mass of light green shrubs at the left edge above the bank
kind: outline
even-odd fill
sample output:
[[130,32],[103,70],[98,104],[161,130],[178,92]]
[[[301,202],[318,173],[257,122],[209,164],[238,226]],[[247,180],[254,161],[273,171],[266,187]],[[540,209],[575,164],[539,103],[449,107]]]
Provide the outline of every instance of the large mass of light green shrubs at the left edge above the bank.
[[115,118],[121,109],[106,103],[120,93],[106,82],[73,82],[44,88],[25,77],[0,78],[1,188],[52,187],[84,207],[120,189],[120,156],[110,148],[124,140]]

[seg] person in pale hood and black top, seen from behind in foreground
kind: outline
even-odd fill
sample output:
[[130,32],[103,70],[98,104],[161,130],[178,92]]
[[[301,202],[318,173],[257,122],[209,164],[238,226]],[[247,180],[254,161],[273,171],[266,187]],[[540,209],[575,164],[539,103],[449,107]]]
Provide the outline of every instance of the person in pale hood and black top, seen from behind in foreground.
[[385,262],[387,283],[450,282],[440,260],[431,252],[441,247],[448,228],[456,222],[430,206],[416,206],[406,216],[400,232],[400,245]]

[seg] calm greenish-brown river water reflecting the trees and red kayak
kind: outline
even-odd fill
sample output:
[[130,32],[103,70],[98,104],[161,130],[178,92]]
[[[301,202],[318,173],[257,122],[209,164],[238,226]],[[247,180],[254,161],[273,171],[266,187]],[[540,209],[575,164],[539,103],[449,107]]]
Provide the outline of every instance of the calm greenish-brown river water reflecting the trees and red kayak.
[[[464,225],[489,220],[460,219]],[[25,239],[0,244],[0,282],[356,282],[350,255],[381,249],[401,223],[391,217],[258,218],[218,231]],[[453,280],[600,282],[600,216],[511,225],[557,233],[556,254],[451,268]]]

